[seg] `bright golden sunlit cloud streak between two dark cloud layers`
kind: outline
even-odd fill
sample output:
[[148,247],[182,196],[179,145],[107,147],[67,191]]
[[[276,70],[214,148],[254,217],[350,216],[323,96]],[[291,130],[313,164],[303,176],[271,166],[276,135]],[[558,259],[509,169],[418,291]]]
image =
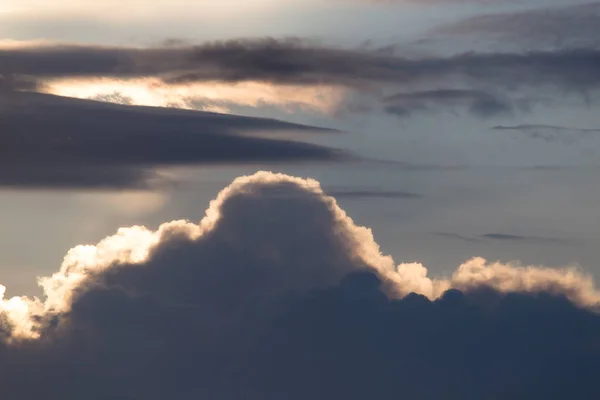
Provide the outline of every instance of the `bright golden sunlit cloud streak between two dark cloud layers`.
[[152,78],[136,80],[60,79],[47,82],[48,93],[121,104],[177,107],[227,113],[231,106],[277,107],[334,114],[347,89],[331,86],[272,85],[262,82],[204,82],[185,86],[165,85]]

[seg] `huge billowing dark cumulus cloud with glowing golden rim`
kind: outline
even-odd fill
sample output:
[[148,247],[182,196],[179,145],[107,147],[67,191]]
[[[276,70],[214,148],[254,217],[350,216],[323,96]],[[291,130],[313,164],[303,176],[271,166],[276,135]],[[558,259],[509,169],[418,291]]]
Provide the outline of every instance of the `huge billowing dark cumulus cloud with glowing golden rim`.
[[[592,398],[600,293],[474,258],[380,253],[318,182],[240,177],[198,224],[121,228],[0,303],[6,398]],[[415,293],[411,293],[415,292]],[[2,330],[0,330],[2,331]],[[435,384],[433,384],[435,383]]]

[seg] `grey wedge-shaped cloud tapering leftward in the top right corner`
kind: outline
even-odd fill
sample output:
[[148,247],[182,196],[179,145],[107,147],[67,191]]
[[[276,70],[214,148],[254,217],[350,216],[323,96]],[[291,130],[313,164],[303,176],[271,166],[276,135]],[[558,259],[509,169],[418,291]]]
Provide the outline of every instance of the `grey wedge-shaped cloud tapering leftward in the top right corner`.
[[521,48],[597,48],[600,3],[486,14],[438,28],[434,35],[468,35]]

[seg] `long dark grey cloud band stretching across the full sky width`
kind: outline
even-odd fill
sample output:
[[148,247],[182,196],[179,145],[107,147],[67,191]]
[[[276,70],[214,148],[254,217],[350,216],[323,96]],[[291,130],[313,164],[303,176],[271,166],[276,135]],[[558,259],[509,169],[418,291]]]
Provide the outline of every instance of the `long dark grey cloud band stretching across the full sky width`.
[[364,86],[451,77],[505,86],[597,86],[596,49],[527,53],[466,53],[409,59],[301,40],[238,40],[199,46],[125,48],[28,46],[0,51],[0,73],[44,77],[159,76],[171,83],[247,80]]

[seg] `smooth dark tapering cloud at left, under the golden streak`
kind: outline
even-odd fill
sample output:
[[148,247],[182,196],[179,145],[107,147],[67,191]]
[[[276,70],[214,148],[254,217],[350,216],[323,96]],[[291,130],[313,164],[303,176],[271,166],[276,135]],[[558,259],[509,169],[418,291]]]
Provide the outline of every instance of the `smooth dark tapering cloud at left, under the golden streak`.
[[[148,188],[189,164],[334,161],[339,151],[257,137],[318,131],[278,120],[0,93],[0,187]],[[255,136],[253,136],[255,135]]]

